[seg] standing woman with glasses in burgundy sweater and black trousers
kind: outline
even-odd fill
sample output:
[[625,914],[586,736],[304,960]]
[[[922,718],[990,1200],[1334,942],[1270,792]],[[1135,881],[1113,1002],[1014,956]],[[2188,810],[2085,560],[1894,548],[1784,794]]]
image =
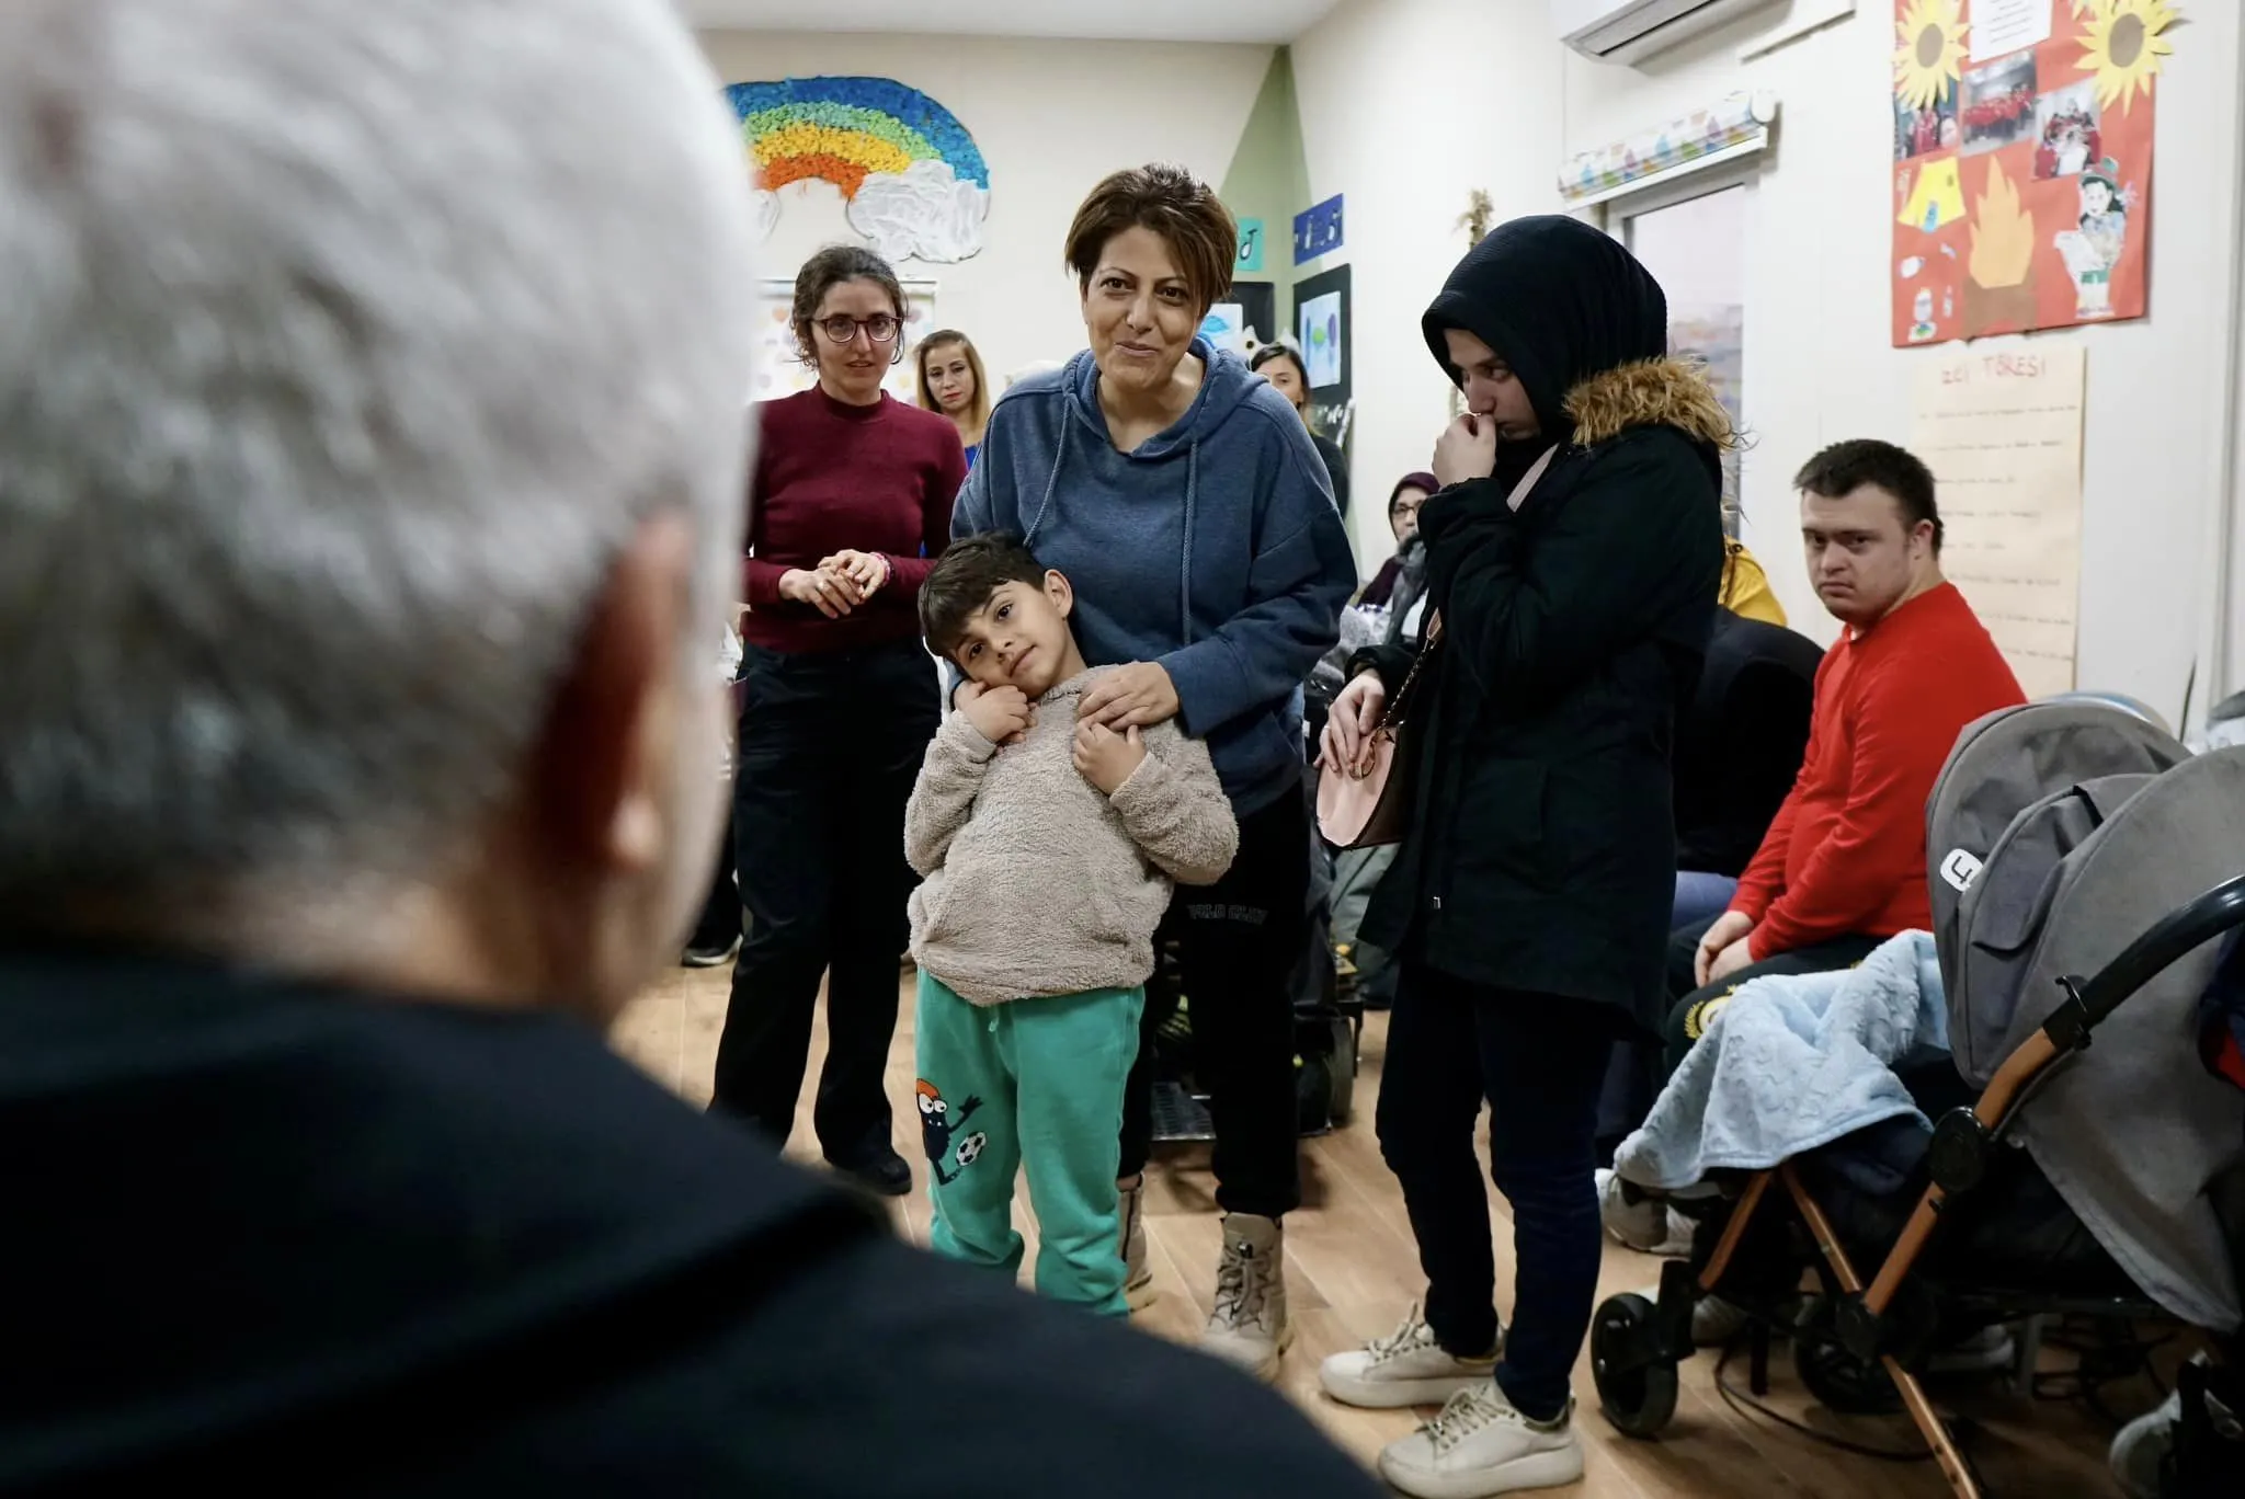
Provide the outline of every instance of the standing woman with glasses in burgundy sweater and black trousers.
[[795,278],[795,337],[819,384],[757,408],[732,792],[750,920],[714,1100],[786,1142],[824,976],[813,1124],[826,1160],[889,1194],[911,1189],[882,1091],[914,882],[905,801],[941,720],[914,601],[968,473],[945,417],[880,388],[902,316],[880,256],[822,249]]

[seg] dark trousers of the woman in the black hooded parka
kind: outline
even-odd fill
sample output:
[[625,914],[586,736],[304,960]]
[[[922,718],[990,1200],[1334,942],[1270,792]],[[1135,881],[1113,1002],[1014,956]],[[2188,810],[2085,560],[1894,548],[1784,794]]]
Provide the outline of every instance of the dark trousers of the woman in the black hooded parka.
[[1601,1005],[1488,990],[1403,965],[1381,1075],[1381,1156],[1426,1270],[1426,1322],[1459,1358],[1497,1340],[1488,1189],[1473,1122],[1488,1100],[1488,1165],[1513,1207],[1513,1328],[1504,1396],[1536,1420],[1567,1407],[1598,1295],[1592,1140],[1616,1019]]

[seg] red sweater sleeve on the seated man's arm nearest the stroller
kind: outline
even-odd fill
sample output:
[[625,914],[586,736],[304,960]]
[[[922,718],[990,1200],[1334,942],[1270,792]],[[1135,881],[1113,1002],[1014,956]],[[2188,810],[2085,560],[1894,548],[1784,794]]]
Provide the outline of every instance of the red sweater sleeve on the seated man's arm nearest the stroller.
[[[1915,682],[1913,691],[1910,675],[1906,660],[1890,657],[1852,682],[1854,774],[1848,801],[1800,877],[1762,911],[1747,940],[1756,960],[1861,931],[1886,909],[1895,886],[1922,877],[1926,794],[1955,741],[1955,723],[1949,714],[1926,711],[1924,682]],[[1821,725],[1821,732],[1834,727]],[[1762,853],[1769,853],[1767,844]]]

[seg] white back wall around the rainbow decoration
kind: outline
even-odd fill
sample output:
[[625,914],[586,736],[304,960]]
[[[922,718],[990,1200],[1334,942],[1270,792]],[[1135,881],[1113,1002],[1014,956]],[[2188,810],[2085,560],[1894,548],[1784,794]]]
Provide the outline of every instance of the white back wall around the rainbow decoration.
[[[979,36],[813,36],[705,31],[725,83],[887,76],[934,96],[990,164],[986,249],[956,265],[907,260],[936,281],[936,319],[981,348],[992,386],[1033,359],[1084,346],[1062,247],[1075,204],[1118,166],[1179,162],[1221,182],[1271,47],[997,40]],[[792,276],[822,245],[858,242],[824,182],[781,191],[779,229],[757,274]]]

